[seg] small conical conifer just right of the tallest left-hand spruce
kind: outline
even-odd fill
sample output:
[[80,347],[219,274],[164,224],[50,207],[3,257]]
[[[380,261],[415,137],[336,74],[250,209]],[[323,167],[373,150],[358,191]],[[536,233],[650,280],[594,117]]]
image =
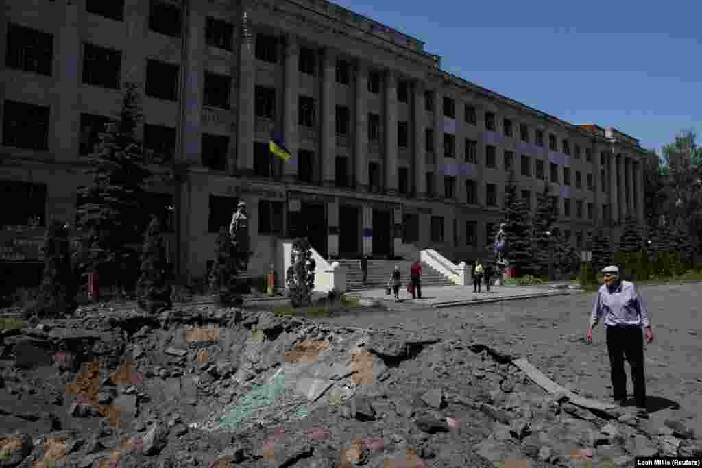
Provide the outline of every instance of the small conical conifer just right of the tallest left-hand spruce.
[[158,218],[152,218],[145,234],[141,255],[141,276],[137,283],[138,304],[151,314],[173,306],[167,283],[166,247]]

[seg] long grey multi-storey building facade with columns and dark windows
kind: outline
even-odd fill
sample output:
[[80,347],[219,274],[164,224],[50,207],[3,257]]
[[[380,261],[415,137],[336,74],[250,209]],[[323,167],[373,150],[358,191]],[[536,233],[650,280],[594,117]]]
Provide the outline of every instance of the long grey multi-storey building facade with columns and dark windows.
[[[643,222],[637,140],[452,76],[421,41],[329,2],[6,4],[0,183],[6,201],[27,200],[0,221],[6,242],[30,218],[74,218],[85,156],[126,82],[140,88],[159,174],[152,209],[189,276],[206,272],[239,200],[252,274],[276,262],[277,239],[300,235],[325,257],[432,248],[470,261],[512,171],[532,210],[550,187],[576,246],[600,222],[614,239],[626,213]],[[268,152],[276,128],[286,163]]]

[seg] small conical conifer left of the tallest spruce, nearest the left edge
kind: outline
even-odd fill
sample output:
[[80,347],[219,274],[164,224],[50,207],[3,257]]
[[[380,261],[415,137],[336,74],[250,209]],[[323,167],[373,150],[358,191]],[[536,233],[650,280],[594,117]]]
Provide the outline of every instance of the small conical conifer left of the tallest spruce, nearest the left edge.
[[60,316],[73,312],[75,278],[71,264],[68,229],[60,221],[53,221],[46,229],[44,239],[44,275],[39,290],[39,309],[44,316]]

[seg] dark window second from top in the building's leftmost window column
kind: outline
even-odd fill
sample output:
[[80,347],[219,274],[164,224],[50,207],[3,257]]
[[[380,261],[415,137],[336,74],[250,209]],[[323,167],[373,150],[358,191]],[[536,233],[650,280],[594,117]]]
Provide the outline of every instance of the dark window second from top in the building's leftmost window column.
[[3,145],[24,149],[48,149],[49,108],[6,100]]

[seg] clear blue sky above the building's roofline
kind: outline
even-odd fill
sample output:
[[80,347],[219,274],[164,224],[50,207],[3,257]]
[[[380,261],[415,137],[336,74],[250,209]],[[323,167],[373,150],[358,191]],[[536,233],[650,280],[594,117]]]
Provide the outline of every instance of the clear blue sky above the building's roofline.
[[424,41],[447,72],[565,121],[657,152],[684,128],[702,143],[702,1],[333,1]]

